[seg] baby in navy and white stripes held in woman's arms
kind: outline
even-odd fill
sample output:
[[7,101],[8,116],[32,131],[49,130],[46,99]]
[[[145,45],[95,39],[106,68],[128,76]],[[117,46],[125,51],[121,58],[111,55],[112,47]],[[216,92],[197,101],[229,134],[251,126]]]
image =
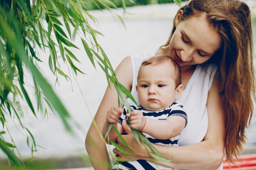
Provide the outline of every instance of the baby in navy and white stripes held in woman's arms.
[[[137,82],[136,90],[140,106],[138,108],[130,106],[133,110],[131,113],[127,113],[126,108],[110,108],[103,126],[103,136],[106,135],[110,123],[124,134],[121,124],[130,117],[130,127],[140,130],[150,142],[178,146],[179,135],[187,124],[183,104],[176,101],[183,91],[180,66],[168,55],[150,57],[141,64]],[[117,137],[115,131],[111,129],[109,138],[116,141]],[[137,160],[115,164],[112,169],[171,170],[172,168]]]

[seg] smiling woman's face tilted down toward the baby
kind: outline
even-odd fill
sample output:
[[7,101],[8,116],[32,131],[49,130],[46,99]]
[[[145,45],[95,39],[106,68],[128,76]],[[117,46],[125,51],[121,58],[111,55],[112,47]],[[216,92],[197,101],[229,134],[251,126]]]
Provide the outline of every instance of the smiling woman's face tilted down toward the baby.
[[175,18],[176,30],[168,46],[170,55],[180,66],[201,64],[220,48],[218,32],[208,24],[205,13],[180,20],[183,11]]

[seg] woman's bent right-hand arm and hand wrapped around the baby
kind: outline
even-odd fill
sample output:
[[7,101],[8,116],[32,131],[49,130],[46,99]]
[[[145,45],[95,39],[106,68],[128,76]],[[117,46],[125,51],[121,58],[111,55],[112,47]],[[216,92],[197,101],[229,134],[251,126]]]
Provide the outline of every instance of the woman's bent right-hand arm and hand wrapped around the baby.
[[[218,81],[214,79],[211,89],[208,94],[207,110],[208,110],[208,129],[207,134],[204,137],[204,141],[197,144],[188,146],[162,146],[156,145],[155,148],[164,155],[167,159],[171,159],[171,162],[156,161],[157,164],[179,169],[205,169],[216,170],[223,159],[224,153],[224,134],[225,123],[224,113],[220,102],[221,96],[218,93]],[[128,126],[125,124],[123,128],[128,132]],[[123,135],[127,144],[132,150],[136,150],[135,157],[124,155],[118,150],[114,149],[114,153],[119,155],[121,159],[144,159],[151,161],[146,149],[143,145],[139,146],[132,134]],[[120,139],[117,139],[119,146],[125,148]],[[151,153],[153,151],[150,150]]]

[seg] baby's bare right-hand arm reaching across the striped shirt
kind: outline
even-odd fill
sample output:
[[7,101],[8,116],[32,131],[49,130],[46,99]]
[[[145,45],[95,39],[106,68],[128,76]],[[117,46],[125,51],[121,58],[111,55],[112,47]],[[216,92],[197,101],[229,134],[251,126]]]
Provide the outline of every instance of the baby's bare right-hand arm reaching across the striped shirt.
[[143,117],[140,110],[134,110],[130,114],[130,127],[141,130],[156,139],[170,139],[179,135],[186,124],[186,119],[182,116],[172,115],[167,117],[166,120],[155,120]]

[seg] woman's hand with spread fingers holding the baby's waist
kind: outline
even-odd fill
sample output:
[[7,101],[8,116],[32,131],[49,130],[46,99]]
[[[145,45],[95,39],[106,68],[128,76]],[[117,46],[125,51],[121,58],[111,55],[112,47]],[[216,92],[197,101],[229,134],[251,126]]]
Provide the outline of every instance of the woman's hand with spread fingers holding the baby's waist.
[[115,148],[115,149],[113,149],[113,152],[116,154],[116,157],[118,159],[129,159],[132,161],[135,161],[138,159],[145,159],[145,158],[149,157],[148,152],[147,152],[146,148],[144,147],[144,145],[142,144],[142,142],[141,142],[141,145],[138,144],[138,142],[132,135],[132,130],[130,129],[128,124],[124,121],[122,123],[122,128],[127,133],[127,135],[122,135],[122,137],[126,141],[129,148],[134,152],[130,152],[126,148],[126,146],[124,146],[124,144],[122,143],[122,141],[119,138],[117,138],[118,145],[121,148],[123,148],[124,150],[126,150],[127,152],[129,152],[131,155],[134,155],[134,157],[126,155]]

